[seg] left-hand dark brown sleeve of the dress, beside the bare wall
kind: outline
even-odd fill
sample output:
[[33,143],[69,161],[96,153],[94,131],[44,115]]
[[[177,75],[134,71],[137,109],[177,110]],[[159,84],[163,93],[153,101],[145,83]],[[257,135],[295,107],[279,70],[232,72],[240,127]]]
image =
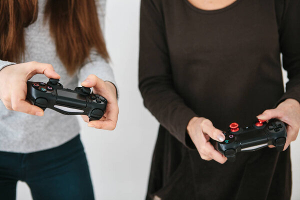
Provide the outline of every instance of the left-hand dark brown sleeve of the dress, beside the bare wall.
[[172,80],[163,13],[153,0],[141,0],[139,89],[146,108],[181,143],[193,145],[186,133],[196,116],[178,95]]

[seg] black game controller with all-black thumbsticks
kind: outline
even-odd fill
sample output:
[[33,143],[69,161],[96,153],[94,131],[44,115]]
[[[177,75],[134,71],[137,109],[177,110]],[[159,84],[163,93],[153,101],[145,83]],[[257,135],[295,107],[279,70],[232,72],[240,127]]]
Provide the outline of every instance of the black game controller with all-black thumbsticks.
[[83,114],[90,121],[103,116],[107,104],[104,97],[90,93],[89,87],[65,89],[58,81],[52,78],[47,83],[27,81],[26,98],[43,110],[48,107],[62,114]]

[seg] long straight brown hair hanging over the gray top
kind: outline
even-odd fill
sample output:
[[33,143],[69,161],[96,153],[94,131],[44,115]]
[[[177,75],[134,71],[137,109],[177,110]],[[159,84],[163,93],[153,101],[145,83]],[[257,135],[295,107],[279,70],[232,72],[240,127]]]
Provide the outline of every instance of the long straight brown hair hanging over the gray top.
[[[24,27],[37,18],[37,0],[0,0],[0,59],[19,62],[24,54]],[[44,21],[57,54],[69,74],[88,57],[90,49],[108,60],[94,0],[47,0]]]

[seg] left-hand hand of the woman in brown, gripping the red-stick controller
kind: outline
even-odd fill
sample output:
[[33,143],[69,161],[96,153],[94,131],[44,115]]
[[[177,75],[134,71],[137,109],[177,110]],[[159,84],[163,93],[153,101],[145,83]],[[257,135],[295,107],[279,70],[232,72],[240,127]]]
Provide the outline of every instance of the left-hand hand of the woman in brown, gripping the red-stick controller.
[[189,120],[186,129],[202,159],[214,159],[221,164],[227,160],[227,158],[217,151],[209,142],[209,138],[220,142],[225,139],[223,132],[215,128],[209,119],[193,117]]

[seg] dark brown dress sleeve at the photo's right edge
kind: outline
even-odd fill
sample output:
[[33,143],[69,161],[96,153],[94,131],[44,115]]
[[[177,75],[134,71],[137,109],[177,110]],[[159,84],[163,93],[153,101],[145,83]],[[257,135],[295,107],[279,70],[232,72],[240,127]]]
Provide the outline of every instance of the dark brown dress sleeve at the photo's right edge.
[[284,0],[281,4],[283,14],[279,23],[280,51],[289,80],[278,103],[287,98],[300,102],[300,1]]

